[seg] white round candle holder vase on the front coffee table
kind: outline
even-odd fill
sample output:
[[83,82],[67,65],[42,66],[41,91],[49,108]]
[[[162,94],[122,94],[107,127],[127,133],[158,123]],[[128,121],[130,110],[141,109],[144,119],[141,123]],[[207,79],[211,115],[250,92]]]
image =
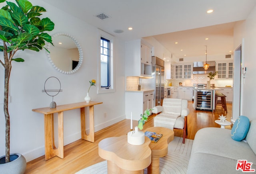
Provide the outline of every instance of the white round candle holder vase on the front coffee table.
[[145,143],[145,133],[138,130],[138,127],[135,127],[135,131],[130,131],[127,134],[127,141],[131,145],[142,145]]

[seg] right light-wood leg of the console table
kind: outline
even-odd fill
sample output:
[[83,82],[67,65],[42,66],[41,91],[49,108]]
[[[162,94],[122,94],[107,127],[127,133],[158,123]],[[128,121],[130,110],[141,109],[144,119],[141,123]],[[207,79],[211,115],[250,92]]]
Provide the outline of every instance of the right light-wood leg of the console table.
[[89,134],[86,134],[85,126],[85,108],[80,109],[81,112],[81,137],[86,141],[94,143],[94,106],[89,106]]

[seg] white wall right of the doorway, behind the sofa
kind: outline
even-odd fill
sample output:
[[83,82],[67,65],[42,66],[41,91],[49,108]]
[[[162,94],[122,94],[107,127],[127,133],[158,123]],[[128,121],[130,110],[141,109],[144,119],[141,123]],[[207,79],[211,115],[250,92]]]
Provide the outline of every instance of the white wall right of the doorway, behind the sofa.
[[240,22],[234,28],[234,49],[242,45],[242,61],[246,66],[246,78],[243,79],[242,115],[256,119],[254,107],[256,104],[256,7],[250,12],[245,22]]

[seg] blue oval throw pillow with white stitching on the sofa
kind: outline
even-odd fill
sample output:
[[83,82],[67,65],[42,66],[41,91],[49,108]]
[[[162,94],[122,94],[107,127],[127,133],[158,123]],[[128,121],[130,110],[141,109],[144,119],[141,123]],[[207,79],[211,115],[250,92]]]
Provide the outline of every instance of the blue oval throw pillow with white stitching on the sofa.
[[242,141],[249,130],[250,127],[250,120],[248,117],[240,115],[231,130],[231,138],[236,141]]

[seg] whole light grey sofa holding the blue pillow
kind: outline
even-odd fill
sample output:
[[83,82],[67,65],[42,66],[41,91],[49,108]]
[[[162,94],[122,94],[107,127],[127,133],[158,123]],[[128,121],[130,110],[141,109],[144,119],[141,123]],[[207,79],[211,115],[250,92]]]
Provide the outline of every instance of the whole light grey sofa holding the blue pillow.
[[187,173],[244,173],[241,170],[242,164],[236,170],[238,160],[247,160],[247,166],[255,169],[252,173],[256,173],[256,120],[250,121],[246,141],[247,143],[233,140],[230,129],[216,127],[200,129],[193,142]]

